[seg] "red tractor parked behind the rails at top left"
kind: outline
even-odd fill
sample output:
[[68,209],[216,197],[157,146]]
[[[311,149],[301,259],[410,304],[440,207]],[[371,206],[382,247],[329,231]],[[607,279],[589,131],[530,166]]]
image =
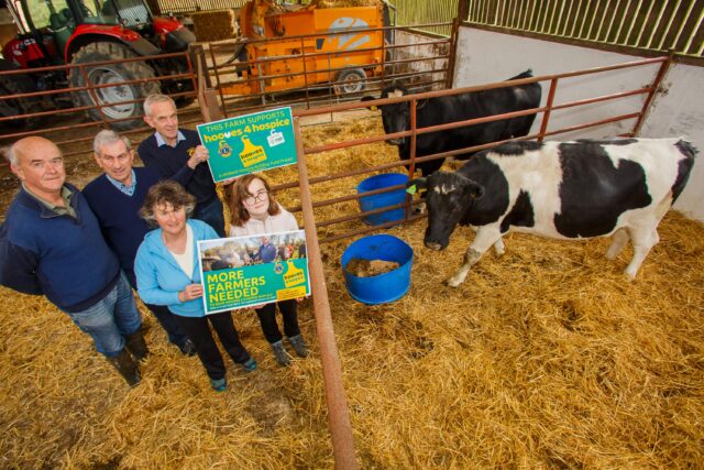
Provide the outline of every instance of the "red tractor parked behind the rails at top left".
[[[160,89],[169,95],[194,89],[189,78],[125,84],[186,73],[185,57],[86,65],[84,73],[78,67],[68,74],[57,70],[31,73],[32,68],[51,65],[91,64],[187,51],[196,40],[195,35],[175,18],[152,15],[144,0],[7,0],[7,6],[20,34],[2,47],[4,58],[0,61],[0,70],[21,68],[28,74],[0,75],[0,94],[85,87],[86,79],[92,85],[114,84],[75,91],[70,97],[52,95],[52,105],[116,103],[88,112],[95,120],[100,120],[101,113],[110,120],[120,120],[112,127],[124,130],[138,125],[142,114],[142,105],[130,101],[143,99]],[[29,83],[28,77],[32,77]],[[179,105],[193,100],[193,96],[176,99]],[[8,102],[0,107],[0,114],[13,107],[19,111],[35,112],[40,100],[4,101]]]

